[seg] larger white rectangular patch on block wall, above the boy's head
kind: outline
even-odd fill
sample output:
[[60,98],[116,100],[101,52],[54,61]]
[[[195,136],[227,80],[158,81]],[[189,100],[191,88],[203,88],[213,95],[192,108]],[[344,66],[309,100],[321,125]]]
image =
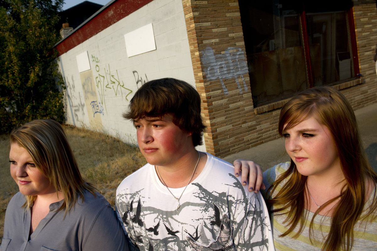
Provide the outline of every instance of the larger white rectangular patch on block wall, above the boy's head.
[[128,57],[156,50],[152,23],[127,33],[124,40]]

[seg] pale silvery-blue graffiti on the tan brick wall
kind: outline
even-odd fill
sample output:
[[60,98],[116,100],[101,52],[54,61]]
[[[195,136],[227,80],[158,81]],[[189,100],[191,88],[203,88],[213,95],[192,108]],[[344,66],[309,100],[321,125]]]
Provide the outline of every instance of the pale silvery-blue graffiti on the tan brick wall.
[[[201,61],[206,78],[219,80],[224,94],[228,94],[228,89],[224,84],[226,79],[234,78],[240,94],[248,90],[243,76],[248,74],[247,61],[240,48],[229,47],[223,54],[215,54],[211,47],[206,47],[201,53]],[[241,78],[242,85],[239,78]]]

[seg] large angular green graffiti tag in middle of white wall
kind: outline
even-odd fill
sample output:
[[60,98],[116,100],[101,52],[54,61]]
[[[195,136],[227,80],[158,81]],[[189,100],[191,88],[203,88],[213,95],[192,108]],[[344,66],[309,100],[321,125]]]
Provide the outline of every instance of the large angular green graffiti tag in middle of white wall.
[[101,70],[100,66],[98,65],[100,59],[93,55],[92,62],[97,63],[95,65],[95,70],[97,72],[97,76],[95,77],[95,85],[100,97],[100,102],[105,106],[105,110],[107,110],[105,98],[105,96],[107,96],[105,95],[107,91],[112,90],[115,96],[121,96],[122,98],[125,97],[126,100],[129,101],[128,96],[132,93],[132,90],[124,86],[124,82],[119,78],[118,70],[115,70],[115,72],[112,71],[110,69],[110,64],[105,65],[103,70]]

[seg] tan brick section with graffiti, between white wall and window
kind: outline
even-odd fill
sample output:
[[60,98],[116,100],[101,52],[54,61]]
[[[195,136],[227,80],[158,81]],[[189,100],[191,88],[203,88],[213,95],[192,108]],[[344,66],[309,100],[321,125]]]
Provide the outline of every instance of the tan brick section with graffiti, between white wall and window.
[[183,0],[207,151],[223,157],[276,138],[274,112],[254,114],[237,0]]

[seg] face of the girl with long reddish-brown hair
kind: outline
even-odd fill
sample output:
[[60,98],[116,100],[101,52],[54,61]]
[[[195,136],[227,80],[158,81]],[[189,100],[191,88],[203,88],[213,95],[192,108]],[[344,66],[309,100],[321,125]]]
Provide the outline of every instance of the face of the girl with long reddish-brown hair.
[[318,123],[315,116],[284,129],[283,136],[285,150],[300,174],[320,176],[342,173],[333,136],[326,126]]

